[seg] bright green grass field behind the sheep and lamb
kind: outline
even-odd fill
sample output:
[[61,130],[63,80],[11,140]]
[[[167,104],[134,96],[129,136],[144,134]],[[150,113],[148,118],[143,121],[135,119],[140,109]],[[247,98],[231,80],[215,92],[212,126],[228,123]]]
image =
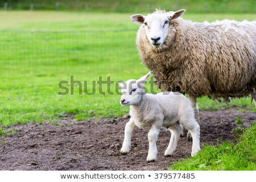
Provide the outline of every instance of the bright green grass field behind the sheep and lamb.
[[[67,13],[53,11],[0,11],[0,123],[9,126],[49,122],[73,115],[78,120],[126,114],[118,94],[59,96],[61,80],[113,81],[139,78],[147,73],[135,45],[138,25],[131,14]],[[185,14],[194,21],[255,19],[254,14]],[[148,86],[148,85],[147,85]],[[106,86],[103,86],[106,90]],[[111,90],[115,90],[112,85]],[[200,98],[201,110],[228,107]],[[232,101],[254,109],[250,99]],[[1,126],[0,125],[0,126]]]

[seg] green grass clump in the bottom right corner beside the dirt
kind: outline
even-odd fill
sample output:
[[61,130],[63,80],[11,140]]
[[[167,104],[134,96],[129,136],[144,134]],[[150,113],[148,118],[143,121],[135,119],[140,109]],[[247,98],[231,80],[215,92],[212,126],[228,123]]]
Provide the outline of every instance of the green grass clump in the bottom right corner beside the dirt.
[[173,164],[170,170],[255,171],[256,123],[247,129],[237,144],[224,142],[217,147],[205,145],[190,159]]

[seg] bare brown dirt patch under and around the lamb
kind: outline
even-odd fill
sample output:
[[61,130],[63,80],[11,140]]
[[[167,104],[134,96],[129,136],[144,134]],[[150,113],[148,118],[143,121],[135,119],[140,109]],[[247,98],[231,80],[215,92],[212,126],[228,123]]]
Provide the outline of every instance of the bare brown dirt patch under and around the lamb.
[[[231,131],[234,120],[253,123],[256,113],[238,113],[238,109],[201,111],[201,144],[235,142]],[[28,123],[14,126],[17,133],[4,137],[0,146],[1,170],[163,170],[179,159],[188,158],[192,142],[180,138],[177,151],[170,158],[164,151],[170,132],[162,130],[158,139],[158,160],[147,163],[147,131],[134,131],[131,152],[119,153],[125,123],[129,118],[106,118],[100,121],[76,122],[68,118],[49,123]]]

